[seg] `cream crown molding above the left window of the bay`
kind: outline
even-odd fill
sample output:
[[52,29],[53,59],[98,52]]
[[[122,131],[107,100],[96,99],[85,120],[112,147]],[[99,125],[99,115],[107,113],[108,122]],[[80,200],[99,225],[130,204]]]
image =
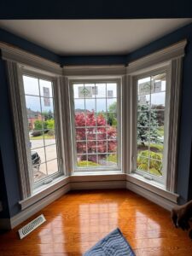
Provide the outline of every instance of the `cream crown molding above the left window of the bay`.
[[16,48],[11,44],[0,42],[1,57],[5,61],[13,61],[30,67],[43,69],[46,72],[62,74],[60,64],[48,61],[38,55],[28,53],[26,50]]

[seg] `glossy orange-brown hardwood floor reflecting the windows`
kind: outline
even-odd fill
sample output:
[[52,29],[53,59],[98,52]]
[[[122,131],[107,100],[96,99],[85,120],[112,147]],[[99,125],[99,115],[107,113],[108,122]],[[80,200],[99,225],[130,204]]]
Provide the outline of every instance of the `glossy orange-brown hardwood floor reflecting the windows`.
[[[47,221],[20,240],[17,230],[40,213]],[[136,255],[192,255],[170,212],[124,189],[70,192],[32,218],[0,236],[0,255],[78,256],[116,227]]]

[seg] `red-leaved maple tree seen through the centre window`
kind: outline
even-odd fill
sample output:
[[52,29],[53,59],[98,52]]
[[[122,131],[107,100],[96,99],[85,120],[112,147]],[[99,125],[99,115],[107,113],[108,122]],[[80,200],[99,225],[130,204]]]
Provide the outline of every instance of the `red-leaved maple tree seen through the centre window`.
[[[116,153],[117,129],[108,125],[103,113],[75,113],[75,126],[78,154],[90,153],[89,160],[96,161],[96,152],[102,154],[101,158],[107,153]],[[81,155],[81,160],[86,160],[86,155]]]

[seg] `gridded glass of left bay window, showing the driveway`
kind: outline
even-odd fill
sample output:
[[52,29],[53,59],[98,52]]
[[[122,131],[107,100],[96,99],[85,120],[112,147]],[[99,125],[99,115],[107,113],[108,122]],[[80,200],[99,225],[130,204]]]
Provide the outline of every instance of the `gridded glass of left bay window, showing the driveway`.
[[28,119],[29,166],[34,187],[61,175],[55,129],[53,81],[23,75]]

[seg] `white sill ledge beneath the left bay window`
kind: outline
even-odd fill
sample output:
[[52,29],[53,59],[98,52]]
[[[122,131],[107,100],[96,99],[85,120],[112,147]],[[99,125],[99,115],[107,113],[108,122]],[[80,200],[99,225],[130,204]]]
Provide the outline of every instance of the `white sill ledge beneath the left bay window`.
[[26,198],[23,201],[20,201],[21,210],[26,209],[27,207],[32,206],[37,201],[40,201],[47,195],[53,193],[55,190],[60,189],[61,187],[67,185],[69,183],[69,177],[58,177],[52,183],[41,186],[38,189],[33,191],[33,194]]

